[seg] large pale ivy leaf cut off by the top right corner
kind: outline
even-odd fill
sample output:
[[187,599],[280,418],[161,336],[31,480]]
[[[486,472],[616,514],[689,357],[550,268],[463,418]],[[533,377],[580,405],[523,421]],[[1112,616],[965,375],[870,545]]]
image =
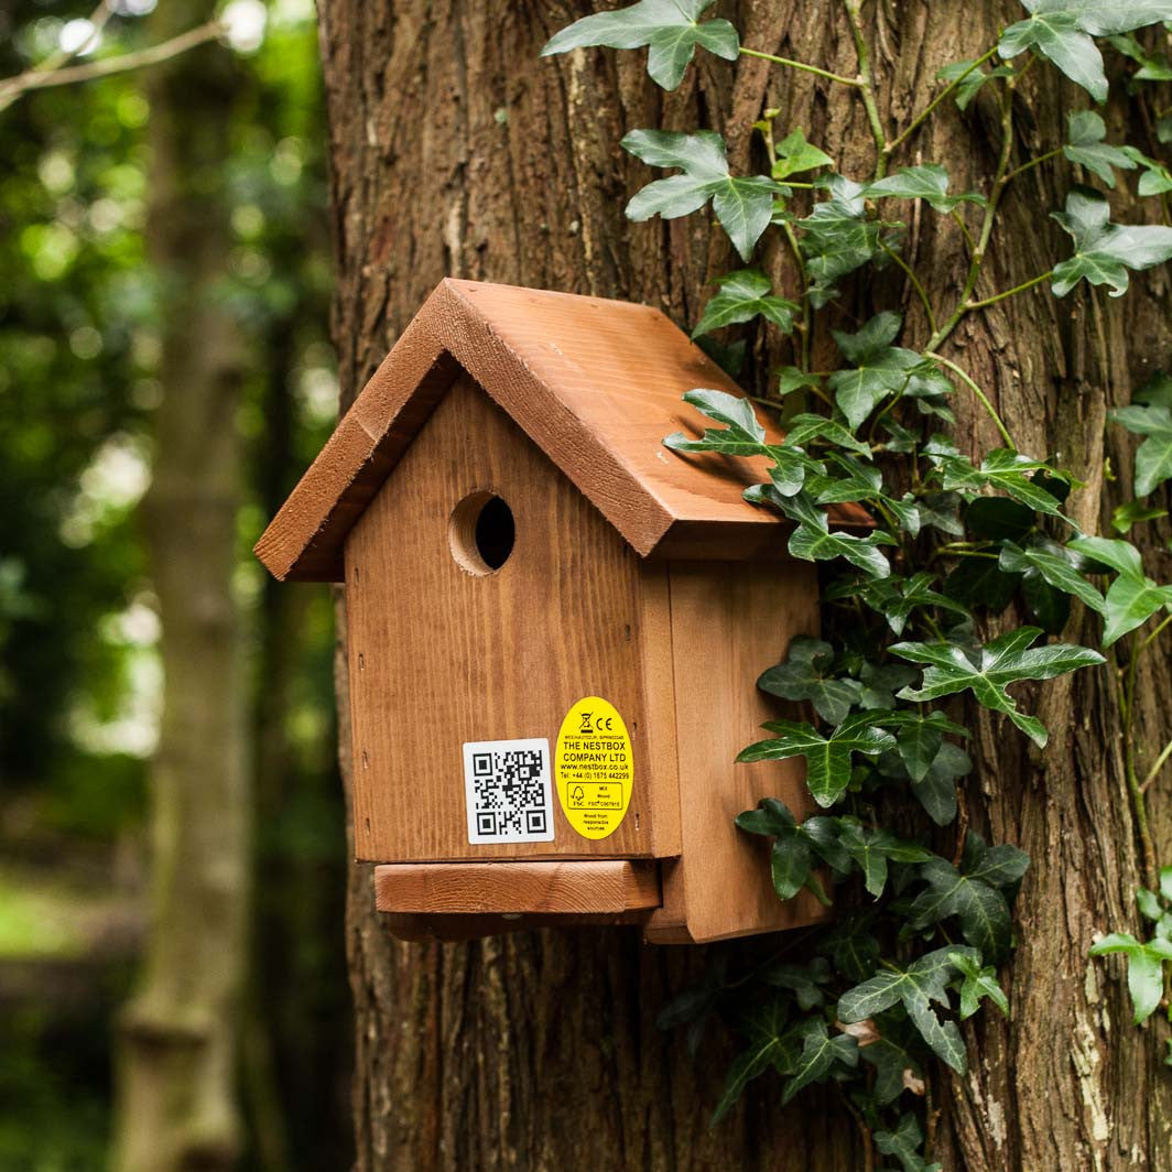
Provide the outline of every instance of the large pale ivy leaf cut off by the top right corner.
[[1106,101],[1103,57],[1091,38],[1115,36],[1172,20],[1170,0],[1022,0],[1033,14],[1001,34],[997,49],[1014,57],[1030,46],[1049,57],[1097,102]]

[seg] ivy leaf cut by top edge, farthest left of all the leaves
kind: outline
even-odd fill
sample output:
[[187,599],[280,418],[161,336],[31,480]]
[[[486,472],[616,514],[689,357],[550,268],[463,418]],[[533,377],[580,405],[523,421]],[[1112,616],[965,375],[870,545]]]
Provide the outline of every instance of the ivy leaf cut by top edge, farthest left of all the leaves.
[[696,52],[696,46],[725,61],[736,61],[741,41],[727,20],[700,16],[714,0],[640,0],[628,8],[600,12],[575,20],[554,33],[541,56],[568,53],[595,45],[612,49],[647,47],[647,71],[663,89],[675,89]]

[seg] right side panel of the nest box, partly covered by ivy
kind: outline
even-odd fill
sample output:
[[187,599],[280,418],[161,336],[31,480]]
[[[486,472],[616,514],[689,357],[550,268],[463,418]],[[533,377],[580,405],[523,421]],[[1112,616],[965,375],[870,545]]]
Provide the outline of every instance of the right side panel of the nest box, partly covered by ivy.
[[[763,797],[799,817],[813,809],[800,759],[734,763],[783,714],[757,676],[795,635],[818,632],[817,572],[808,563],[672,563],[675,704],[683,851],[663,864],[654,942],[720,940],[825,919],[809,892],[782,904],[769,878],[769,843],[734,825]],[[790,716],[793,714],[790,713]]]

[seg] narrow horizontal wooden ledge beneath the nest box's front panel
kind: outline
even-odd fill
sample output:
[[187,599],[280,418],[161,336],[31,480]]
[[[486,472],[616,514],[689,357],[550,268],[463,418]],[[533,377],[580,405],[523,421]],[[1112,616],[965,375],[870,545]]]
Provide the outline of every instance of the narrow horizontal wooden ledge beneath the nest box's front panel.
[[380,912],[621,914],[659,907],[659,868],[586,863],[407,863],[374,868]]

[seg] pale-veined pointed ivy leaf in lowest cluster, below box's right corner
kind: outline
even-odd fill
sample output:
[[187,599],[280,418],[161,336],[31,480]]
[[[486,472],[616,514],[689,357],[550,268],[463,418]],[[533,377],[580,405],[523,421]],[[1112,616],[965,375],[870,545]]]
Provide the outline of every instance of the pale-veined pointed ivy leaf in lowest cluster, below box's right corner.
[[838,1018],[860,1022],[901,1002],[907,1016],[932,1050],[959,1075],[967,1070],[965,1043],[955,1022],[941,1022],[933,1002],[947,1006],[948,982],[956,972],[952,955],[980,959],[975,948],[938,948],[913,961],[907,968],[892,965],[870,980],[847,989],[838,1000]]

